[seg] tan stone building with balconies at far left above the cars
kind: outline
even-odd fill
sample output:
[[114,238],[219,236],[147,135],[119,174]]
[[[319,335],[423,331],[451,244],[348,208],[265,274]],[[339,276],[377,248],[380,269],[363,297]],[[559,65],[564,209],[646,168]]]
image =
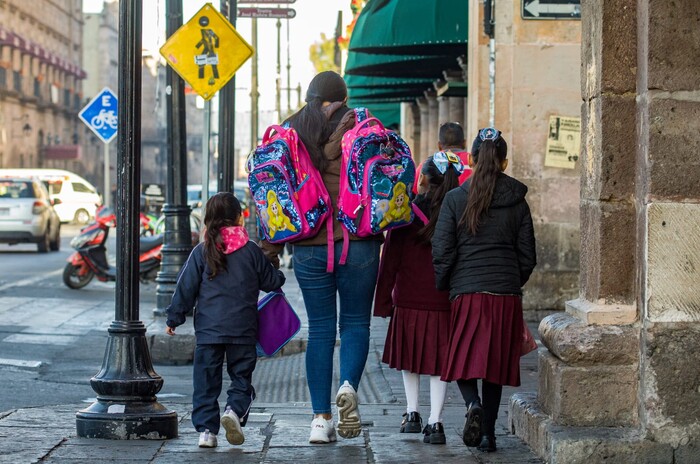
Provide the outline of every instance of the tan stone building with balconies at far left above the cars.
[[82,29],[81,0],[0,1],[0,167],[90,172],[77,119]]

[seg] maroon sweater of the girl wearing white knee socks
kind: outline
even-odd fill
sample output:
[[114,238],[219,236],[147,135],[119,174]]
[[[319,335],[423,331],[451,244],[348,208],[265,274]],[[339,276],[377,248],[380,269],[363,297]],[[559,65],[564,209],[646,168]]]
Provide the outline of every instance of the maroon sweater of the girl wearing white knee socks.
[[420,219],[387,234],[374,297],[374,315],[388,317],[393,307],[449,311],[448,292],[435,288],[432,249],[418,239]]

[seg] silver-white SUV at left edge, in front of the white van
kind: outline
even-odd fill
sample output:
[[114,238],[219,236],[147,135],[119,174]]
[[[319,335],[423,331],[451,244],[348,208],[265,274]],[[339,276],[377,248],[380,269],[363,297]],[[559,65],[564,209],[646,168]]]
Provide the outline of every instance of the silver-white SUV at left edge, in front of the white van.
[[0,174],[0,243],[36,243],[39,253],[61,247],[61,222],[36,178]]

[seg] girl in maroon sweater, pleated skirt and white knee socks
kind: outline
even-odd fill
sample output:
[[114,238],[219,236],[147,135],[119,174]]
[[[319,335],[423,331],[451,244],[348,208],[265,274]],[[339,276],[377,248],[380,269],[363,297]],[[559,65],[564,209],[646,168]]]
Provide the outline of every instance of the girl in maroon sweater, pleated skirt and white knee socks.
[[[450,301],[435,288],[430,238],[442,200],[459,185],[463,165],[452,152],[438,152],[424,164],[415,204],[430,219],[392,230],[384,243],[374,300],[374,315],[391,317],[382,361],[403,374],[406,414],[401,432],[424,433],[423,442],[445,443],[442,410]],[[423,428],[418,412],[420,375],[430,376],[430,417]]]

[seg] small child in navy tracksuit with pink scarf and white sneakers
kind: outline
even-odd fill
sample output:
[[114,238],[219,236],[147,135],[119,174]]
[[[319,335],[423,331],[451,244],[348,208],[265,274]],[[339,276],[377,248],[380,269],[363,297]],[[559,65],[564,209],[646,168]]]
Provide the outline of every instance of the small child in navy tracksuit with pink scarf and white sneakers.
[[[257,361],[258,296],[280,288],[284,274],[248,240],[241,204],[230,192],[207,201],[204,242],[190,253],[180,271],[167,308],[166,333],[185,322],[196,306],[192,423],[200,432],[199,446],[214,448],[219,425],[232,445],[245,440],[243,430],[255,399],[251,383]],[[219,418],[222,367],[231,378],[226,409]]]

